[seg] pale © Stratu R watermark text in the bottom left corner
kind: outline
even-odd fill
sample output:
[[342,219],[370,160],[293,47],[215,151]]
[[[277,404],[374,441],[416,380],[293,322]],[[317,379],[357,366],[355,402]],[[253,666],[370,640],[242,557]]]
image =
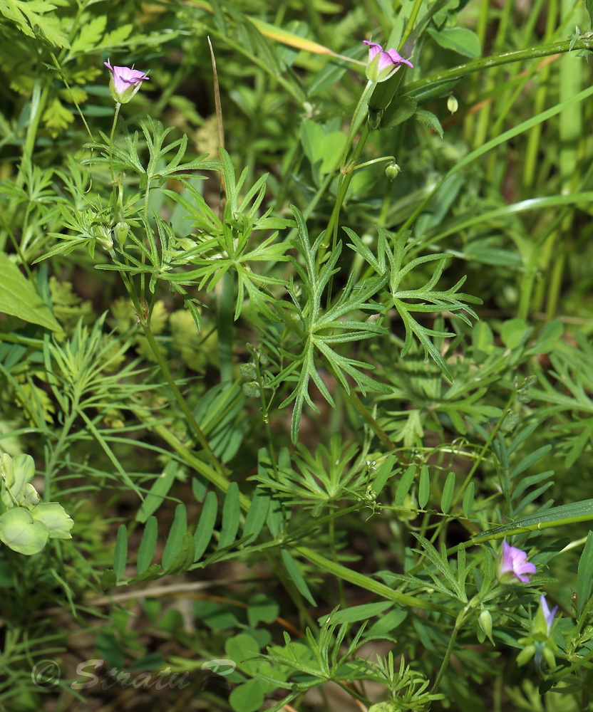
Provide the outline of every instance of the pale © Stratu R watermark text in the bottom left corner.
[[[108,690],[112,687],[119,686],[123,689],[133,687],[135,689],[155,690],[164,689],[185,689],[190,685],[187,681],[189,672],[174,673],[170,667],[160,670],[158,673],[143,672],[133,676],[129,672],[124,672],[116,667],[105,671],[100,678],[93,670],[98,670],[105,664],[101,658],[93,658],[85,660],[76,666],[76,675],[78,678],[69,685],[73,690],[88,690],[91,688],[100,688]],[[205,660],[200,667],[201,670],[207,670],[208,674],[202,683],[202,690],[207,685],[208,681],[216,676],[225,677],[230,675],[235,669],[234,661],[225,658]],[[33,685],[42,690],[50,690],[58,686],[61,680],[61,667],[58,661],[52,659],[43,659],[38,661],[31,670],[31,681]],[[223,683],[227,688],[230,684],[226,681]]]

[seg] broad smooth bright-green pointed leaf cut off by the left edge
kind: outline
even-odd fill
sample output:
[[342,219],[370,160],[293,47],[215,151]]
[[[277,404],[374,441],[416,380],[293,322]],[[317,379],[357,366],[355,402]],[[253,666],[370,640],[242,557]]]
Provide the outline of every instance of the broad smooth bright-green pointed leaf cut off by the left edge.
[[62,331],[33,283],[4,252],[0,252],[0,275],[0,312],[52,331]]

